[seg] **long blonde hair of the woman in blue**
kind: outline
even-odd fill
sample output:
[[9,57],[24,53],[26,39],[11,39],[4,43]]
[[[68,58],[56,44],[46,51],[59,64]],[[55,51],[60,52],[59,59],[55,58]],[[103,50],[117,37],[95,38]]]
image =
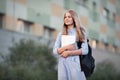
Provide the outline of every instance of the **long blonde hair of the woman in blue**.
[[[77,39],[79,39],[79,41],[83,42],[84,39],[85,39],[85,29],[80,25],[80,21],[79,21],[77,13],[75,11],[73,11],[73,10],[68,10],[67,12],[70,13],[71,16],[72,16],[74,27],[76,28]],[[64,14],[64,18],[65,18],[65,14]],[[65,25],[65,23],[63,24],[62,34],[63,35],[68,34],[67,33],[67,26]]]

